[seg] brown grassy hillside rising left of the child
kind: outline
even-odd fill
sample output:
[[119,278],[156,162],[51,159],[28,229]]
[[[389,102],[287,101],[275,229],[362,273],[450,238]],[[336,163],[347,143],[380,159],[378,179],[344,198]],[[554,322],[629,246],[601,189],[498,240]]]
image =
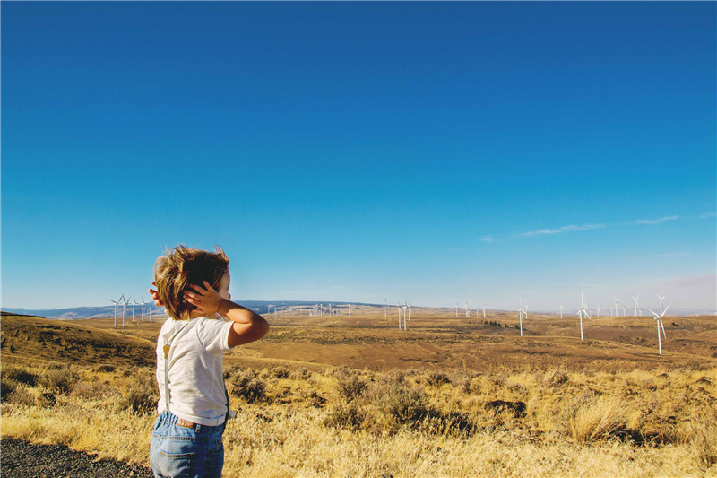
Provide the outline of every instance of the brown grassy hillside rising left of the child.
[[0,318],[0,353],[4,362],[72,362],[151,366],[155,344],[107,329],[42,317]]

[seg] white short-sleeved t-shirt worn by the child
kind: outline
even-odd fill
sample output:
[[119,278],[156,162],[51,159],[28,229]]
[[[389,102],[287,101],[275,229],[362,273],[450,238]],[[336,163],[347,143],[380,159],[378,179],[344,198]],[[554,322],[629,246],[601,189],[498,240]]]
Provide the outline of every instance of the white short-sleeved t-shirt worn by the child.
[[169,343],[169,411],[200,425],[216,426],[224,422],[227,396],[221,365],[223,352],[231,350],[228,341],[232,325],[231,321],[207,317],[168,318],[157,339],[159,413],[166,409],[163,346]]

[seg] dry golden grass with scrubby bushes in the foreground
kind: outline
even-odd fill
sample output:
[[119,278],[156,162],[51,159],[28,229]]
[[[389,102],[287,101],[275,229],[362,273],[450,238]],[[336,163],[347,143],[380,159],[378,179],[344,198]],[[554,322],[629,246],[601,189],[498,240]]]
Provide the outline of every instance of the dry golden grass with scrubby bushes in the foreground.
[[[71,368],[65,393],[22,383],[48,370],[3,366],[15,380],[3,436],[148,463],[154,414],[126,397],[151,387],[152,369]],[[225,476],[717,475],[717,369],[227,373],[263,393],[232,390],[240,412],[224,436]]]

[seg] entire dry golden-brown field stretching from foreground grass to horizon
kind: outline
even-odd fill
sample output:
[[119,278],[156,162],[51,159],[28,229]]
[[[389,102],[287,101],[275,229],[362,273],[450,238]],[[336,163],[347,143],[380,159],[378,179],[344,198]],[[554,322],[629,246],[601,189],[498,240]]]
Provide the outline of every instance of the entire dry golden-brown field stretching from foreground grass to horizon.
[[[717,476],[715,317],[511,316],[267,317],[224,475]],[[159,327],[3,317],[2,435],[147,464]]]

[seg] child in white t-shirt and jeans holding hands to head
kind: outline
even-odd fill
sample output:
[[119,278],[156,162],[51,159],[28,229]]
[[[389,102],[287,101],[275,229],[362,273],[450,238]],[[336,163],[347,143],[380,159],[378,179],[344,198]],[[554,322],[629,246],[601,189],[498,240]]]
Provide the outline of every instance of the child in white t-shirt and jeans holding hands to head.
[[229,258],[220,248],[180,245],[154,265],[157,290],[150,293],[169,314],[157,340],[160,416],[150,443],[156,478],[221,476],[221,435],[231,413],[222,354],[269,330],[262,316],[229,300],[229,280]]

